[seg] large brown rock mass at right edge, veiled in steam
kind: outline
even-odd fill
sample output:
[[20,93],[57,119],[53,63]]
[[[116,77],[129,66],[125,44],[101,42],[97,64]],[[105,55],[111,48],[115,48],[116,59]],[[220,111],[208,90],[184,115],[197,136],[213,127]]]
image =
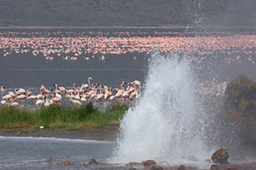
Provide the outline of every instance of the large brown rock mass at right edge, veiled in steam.
[[[256,140],[256,83],[241,76],[225,91],[225,118],[238,139]],[[236,128],[236,129],[235,129]]]

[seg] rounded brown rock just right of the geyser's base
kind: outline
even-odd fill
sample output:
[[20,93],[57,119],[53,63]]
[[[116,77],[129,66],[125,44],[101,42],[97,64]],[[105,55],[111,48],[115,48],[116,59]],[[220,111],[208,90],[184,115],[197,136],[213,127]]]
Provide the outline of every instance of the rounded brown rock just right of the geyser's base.
[[220,148],[212,154],[212,161],[215,164],[227,164],[229,158],[228,150]]

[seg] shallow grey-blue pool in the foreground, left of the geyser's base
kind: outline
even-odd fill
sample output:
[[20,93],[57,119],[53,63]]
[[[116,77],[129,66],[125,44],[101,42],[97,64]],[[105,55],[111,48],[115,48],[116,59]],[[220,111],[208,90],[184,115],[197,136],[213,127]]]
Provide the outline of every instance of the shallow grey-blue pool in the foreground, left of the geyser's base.
[[[6,169],[79,169],[92,158],[106,162],[115,147],[113,141],[44,137],[1,136],[0,143],[0,165]],[[65,160],[74,166],[58,164]]]

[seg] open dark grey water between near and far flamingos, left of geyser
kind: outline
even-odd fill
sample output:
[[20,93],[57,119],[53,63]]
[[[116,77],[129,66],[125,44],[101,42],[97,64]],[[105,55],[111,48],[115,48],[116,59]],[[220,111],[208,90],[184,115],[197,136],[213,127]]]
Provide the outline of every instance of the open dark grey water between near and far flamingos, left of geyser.
[[[107,56],[106,56],[107,57]],[[111,56],[106,61],[65,61],[61,58],[46,61],[42,57],[21,54],[19,57],[0,58],[0,82],[7,88],[52,87],[54,83],[71,87],[73,83],[93,82],[115,87],[122,81],[143,80],[146,60],[143,55],[136,62],[133,56]]]

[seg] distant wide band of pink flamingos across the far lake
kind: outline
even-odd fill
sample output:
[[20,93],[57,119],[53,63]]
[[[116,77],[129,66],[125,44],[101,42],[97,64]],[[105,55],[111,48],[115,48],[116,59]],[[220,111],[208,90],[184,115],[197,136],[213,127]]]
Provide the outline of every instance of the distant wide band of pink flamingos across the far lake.
[[1,32],[0,54],[4,57],[25,54],[50,61],[57,58],[92,60],[94,57],[105,61],[113,55],[150,54],[154,50],[173,54],[179,50],[186,52],[189,60],[196,63],[209,57],[225,56],[223,61],[226,63],[247,61],[255,64],[256,35],[225,32],[224,36],[220,33],[221,36],[181,37],[177,32],[152,32]]

